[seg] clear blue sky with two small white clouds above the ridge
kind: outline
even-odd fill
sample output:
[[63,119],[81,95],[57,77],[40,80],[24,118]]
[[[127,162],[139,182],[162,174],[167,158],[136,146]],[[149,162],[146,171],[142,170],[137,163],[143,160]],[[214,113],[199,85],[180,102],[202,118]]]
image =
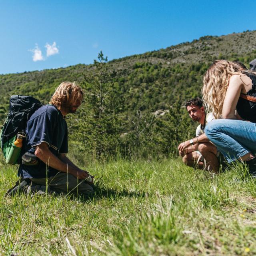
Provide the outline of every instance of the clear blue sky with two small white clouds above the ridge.
[[0,0],[0,74],[90,64],[256,29],[255,1]]

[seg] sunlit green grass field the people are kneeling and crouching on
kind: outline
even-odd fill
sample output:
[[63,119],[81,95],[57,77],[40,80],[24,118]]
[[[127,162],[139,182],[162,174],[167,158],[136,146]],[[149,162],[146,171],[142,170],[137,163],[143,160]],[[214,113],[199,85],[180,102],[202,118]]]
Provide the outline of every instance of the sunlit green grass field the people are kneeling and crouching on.
[[212,175],[172,159],[93,163],[87,201],[4,198],[16,166],[0,169],[0,255],[256,254],[256,182],[234,182],[241,166]]

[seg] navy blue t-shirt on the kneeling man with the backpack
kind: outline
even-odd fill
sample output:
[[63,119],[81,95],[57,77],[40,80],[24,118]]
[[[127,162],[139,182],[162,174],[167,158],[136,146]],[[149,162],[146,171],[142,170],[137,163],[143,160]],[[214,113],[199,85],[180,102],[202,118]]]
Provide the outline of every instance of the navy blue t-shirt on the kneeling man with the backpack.
[[[34,154],[36,146],[42,142],[48,144],[49,150],[58,156],[68,153],[68,127],[64,116],[53,105],[45,105],[30,117],[26,128],[24,148]],[[20,165],[18,176],[24,178],[45,178],[55,176],[59,171],[39,161],[36,166]]]

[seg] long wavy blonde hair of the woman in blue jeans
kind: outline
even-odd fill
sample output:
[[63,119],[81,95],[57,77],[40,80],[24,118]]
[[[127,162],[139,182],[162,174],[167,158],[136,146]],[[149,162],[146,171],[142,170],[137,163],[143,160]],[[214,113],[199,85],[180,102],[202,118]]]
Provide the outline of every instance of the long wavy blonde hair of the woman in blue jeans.
[[212,112],[216,119],[221,118],[230,77],[233,74],[239,74],[242,70],[251,73],[242,62],[216,60],[205,72],[202,88],[203,101],[206,110]]

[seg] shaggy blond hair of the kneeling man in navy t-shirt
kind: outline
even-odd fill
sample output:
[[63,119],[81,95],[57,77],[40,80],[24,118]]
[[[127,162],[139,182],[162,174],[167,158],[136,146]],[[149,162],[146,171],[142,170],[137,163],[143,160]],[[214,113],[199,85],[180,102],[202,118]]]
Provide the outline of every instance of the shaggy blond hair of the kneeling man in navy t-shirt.
[[57,108],[68,107],[77,100],[82,102],[83,98],[84,92],[75,82],[62,82],[55,90],[49,103]]

